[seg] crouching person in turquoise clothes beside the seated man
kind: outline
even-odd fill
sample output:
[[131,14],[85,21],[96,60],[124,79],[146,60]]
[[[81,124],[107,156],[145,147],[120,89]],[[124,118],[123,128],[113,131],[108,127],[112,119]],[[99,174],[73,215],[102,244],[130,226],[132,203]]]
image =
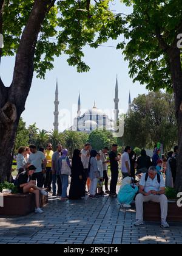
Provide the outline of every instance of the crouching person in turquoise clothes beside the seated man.
[[123,179],[120,191],[118,193],[118,201],[123,207],[130,208],[136,193],[138,192],[138,185],[133,186],[132,178],[126,177]]

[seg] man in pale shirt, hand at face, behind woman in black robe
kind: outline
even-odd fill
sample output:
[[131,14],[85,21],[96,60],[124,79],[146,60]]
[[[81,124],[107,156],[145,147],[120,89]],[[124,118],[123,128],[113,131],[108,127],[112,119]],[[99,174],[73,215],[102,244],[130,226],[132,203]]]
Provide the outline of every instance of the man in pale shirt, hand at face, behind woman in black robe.
[[90,151],[91,151],[91,145],[90,143],[86,143],[84,146],[84,149],[81,150],[81,162],[84,166],[84,172],[82,174],[83,179],[83,194],[82,196],[85,196],[86,194],[86,183],[88,178],[88,168],[89,168],[89,160],[90,160]]

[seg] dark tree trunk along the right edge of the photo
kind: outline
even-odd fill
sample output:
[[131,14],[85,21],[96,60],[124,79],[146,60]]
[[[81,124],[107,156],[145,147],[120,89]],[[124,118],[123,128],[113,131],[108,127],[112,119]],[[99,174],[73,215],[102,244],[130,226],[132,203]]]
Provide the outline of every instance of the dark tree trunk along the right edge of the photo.
[[[175,115],[178,123],[178,158],[177,158],[177,179],[175,188],[182,191],[182,70],[180,49],[172,48],[169,52],[170,70],[175,96]],[[166,134],[167,136],[167,134]]]

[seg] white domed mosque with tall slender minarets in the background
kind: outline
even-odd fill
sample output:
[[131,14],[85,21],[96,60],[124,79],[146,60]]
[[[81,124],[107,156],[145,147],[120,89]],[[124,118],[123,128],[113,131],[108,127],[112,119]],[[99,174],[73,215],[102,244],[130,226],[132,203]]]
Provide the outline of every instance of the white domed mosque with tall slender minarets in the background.
[[[78,110],[77,116],[74,118],[73,125],[69,130],[77,131],[77,132],[86,132],[91,133],[93,130],[108,130],[110,132],[115,132],[115,123],[119,118],[119,108],[118,104],[120,99],[118,98],[118,77],[116,78],[116,86],[115,86],[115,98],[113,99],[115,103],[114,113],[115,120],[109,118],[103,110],[100,110],[96,107],[96,103],[92,108],[87,110],[85,113],[81,114],[81,99],[80,94],[78,96]],[[129,108],[131,106],[131,97],[129,93]],[[58,81],[56,84],[56,92],[55,92],[55,122],[53,124],[54,130],[58,130],[59,123],[59,101],[58,101]]]

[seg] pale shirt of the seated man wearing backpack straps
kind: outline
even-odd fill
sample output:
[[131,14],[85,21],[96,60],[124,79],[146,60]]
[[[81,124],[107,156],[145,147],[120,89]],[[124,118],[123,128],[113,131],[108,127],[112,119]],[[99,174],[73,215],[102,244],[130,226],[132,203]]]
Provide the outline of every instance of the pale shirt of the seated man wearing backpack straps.
[[148,177],[148,179],[146,181],[145,180],[146,174],[143,174],[143,176],[141,177],[141,180],[140,180],[140,185],[144,187],[144,191],[146,193],[148,193],[150,190],[160,191],[160,188],[165,187],[163,176],[160,175],[160,177],[161,177],[161,182],[159,184],[158,180],[157,180],[157,175],[155,176],[155,178],[153,180],[150,179],[150,177]]

